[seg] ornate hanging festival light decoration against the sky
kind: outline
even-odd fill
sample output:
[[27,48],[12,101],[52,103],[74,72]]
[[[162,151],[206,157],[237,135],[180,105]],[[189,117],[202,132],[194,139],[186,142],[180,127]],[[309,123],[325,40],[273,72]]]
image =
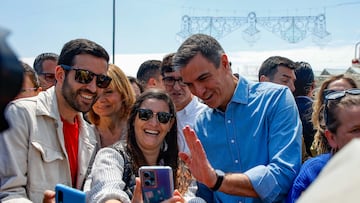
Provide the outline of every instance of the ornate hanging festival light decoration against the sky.
[[250,12],[247,17],[191,17],[183,16],[181,31],[177,33],[179,40],[184,40],[192,34],[208,34],[216,39],[221,39],[231,32],[246,26],[242,37],[250,45],[260,39],[258,27],[272,32],[289,43],[298,43],[307,37],[319,46],[324,46],[330,41],[330,33],[326,30],[326,17],[318,16],[279,16],[257,17],[255,12]]

